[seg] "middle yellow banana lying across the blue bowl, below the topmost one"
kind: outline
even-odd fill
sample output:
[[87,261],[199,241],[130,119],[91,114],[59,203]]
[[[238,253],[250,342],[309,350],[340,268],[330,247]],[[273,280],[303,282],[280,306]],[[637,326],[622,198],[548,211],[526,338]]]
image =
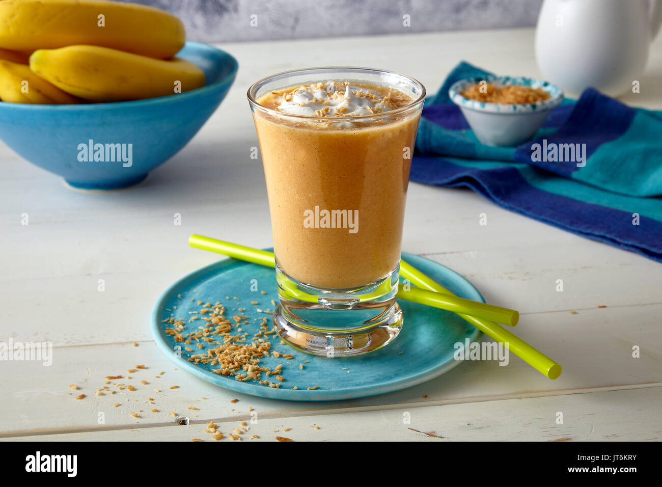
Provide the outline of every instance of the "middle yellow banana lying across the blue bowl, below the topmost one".
[[39,49],[30,56],[30,69],[90,101],[154,98],[205,85],[205,73],[186,60],[164,61],[99,46]]

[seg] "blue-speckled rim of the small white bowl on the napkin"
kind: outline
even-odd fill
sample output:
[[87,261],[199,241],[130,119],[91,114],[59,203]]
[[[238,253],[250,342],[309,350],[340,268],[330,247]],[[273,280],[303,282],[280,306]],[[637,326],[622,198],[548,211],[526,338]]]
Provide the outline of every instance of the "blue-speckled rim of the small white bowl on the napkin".
[[[480,81],[489,83],[496,82],[500,85],[522,85],[540,87],[549,93],[549,98],[538,103],[488,103],[485,101],[465,98],[461,95],[471,85]],[[563,89],[549,81],[529,78],[527,76],[496,76],[493,74],[486,76],[475,76],[455,81],[448,89],[448,96],[455,105],[461,108],[467,108],[474,111],[485,113],[500,113],[502,115],[518,115],[520,113],[536,113],[548,111],[556,107],[563,101]]]

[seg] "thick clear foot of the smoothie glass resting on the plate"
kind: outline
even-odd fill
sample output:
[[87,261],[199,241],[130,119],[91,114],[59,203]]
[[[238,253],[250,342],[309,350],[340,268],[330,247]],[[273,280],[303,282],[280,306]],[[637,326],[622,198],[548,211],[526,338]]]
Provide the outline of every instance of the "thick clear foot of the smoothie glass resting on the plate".
[[328,334],[295,325],[283,316],[281,306],[273,313],[273,323],[281,339],[302,352],[329,358],[354,356],[380,349],[393,341],[402,329],[402,310],[395,303],[393,314],[387,321],[349,333]]

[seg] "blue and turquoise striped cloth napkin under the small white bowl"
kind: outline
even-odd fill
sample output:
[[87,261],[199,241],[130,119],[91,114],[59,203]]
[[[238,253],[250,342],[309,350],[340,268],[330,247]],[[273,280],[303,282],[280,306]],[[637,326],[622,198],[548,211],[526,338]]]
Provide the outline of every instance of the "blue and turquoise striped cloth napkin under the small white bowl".
[[487,74],[461,62],[426,100],[411,180],[466,186],[511,211],[662,262],[662,111],[589,88],[553,109],[532,140],[486,146],[448,89]]

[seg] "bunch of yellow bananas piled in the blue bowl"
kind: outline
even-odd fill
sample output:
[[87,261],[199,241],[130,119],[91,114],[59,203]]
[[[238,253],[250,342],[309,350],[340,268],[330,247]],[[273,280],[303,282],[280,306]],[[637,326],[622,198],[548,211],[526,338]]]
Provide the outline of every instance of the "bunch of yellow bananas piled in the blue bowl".
[[205,85],[173,58],[184,27],[153,7],[107,0],[1,0],[0,100],[96,103],[154,98]]

